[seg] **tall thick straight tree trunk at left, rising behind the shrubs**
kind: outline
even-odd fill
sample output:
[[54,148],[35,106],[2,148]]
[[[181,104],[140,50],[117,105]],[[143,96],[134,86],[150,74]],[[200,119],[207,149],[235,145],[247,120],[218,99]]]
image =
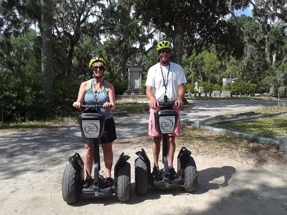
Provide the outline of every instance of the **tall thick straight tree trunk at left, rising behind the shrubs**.
[[42,81],[45,95],[49,100],[47,110],[49,113],[54,107],[53,97],[53,37],[52,37],[52,2],[51,0],[41,0],[41,59],[42,59]]

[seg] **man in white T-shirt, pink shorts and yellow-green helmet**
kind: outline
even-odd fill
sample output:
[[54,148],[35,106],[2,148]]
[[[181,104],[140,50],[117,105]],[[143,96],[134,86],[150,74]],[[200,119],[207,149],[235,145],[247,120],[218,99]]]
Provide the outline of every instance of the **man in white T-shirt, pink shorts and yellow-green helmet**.
[[171,135],[168,136],[168,166],[169,173],[172,179],[178,178],[178,174],[175,172],[172,163],[175,153],[175,136],[180,135],[180,117],[179,109],[183,107],[184,103],[184,83],[186,79],[183,69],[180,65],[170,62],[170,56],[172,55],[172,46],[168,41],[161,41],[156,47],[157,55],[160,62],[149,68],[146,79],[146,96],[149,98],[149,135],[153,136],[152,151],[154,168],[152,171],[152,177],[159,179],[160,170],[158,166],[158,157],[161,150],[162,135],[158,134],[155,130],[154,112],[160,110],[158,102],[164,102],[164,98],[167,98],[167,102],[174,102],[173,109],[178,113],[177,127]]

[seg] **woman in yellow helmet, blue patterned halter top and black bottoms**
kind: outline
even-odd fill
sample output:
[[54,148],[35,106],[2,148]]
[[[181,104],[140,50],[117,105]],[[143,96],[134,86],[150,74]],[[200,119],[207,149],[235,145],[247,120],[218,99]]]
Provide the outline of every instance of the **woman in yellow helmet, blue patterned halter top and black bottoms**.
[[[81,109],[84,103],[89,105],[103,105],[103,108],[98,111],[105,118],[105,127],[103,136],[99,139],[104,154],[104,162],[106,166],[106,180],[105,187],[113,186],[114,179],[111,177],[111,169],[113,164],[113,150],[112,142],[117,139],[115,122],[112,111],[115,109],[115,89],[112,84],[103,79],[103,73],[106,69],[106,61],[101,57],[93,57],[90,60],[89,68],[93,72],[93,78],[83,82],[80,86],[78,99],[73,106]],[[112,107],[110,108],[110,104]],[[85,139],[85,155],[84,163],[86,167],[86,179],[84,181],[84,188],[88,188],[92,184],[92,167],[94,162],[93,155],[93,141],[92,139]]]

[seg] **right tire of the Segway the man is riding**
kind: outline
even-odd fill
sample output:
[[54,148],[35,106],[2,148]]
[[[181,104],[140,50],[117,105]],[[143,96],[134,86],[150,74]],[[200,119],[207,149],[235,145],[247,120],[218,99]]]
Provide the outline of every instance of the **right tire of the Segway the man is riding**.
[[193,157],[189,157],[184,164],[184,190],[192,192],[197,186],[197,170]]

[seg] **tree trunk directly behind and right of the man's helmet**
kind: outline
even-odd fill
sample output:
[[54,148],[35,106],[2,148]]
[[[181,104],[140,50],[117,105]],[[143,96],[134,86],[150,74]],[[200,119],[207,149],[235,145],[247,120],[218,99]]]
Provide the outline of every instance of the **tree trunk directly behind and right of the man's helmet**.
[[183,28],[179,24],[177,29],[174,30],[174,35],[172,36],[172,62],[182,65],[183,56]]

